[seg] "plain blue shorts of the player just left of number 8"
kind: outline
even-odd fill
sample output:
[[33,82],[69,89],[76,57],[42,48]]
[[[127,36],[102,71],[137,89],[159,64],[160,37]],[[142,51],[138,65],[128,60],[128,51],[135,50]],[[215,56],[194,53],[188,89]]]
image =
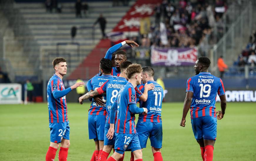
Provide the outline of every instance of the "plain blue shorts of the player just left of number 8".
[[105,122],[106,116],[104,115],[88,115],[89,139],[104,140]]

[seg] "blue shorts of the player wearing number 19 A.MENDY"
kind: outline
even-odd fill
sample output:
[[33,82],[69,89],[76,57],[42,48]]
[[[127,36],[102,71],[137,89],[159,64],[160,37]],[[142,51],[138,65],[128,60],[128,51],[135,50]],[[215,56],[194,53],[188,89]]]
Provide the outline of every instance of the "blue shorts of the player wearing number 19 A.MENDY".
[[193,133],[197,140],[216,140],[217,136],[217,118],[212,116],[203,116],[191,119]]

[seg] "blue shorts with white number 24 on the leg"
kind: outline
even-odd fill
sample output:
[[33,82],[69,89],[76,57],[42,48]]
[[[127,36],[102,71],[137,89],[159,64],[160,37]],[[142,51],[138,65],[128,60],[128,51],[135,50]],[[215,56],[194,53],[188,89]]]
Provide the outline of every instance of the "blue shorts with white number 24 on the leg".
[[59,123],[49,123],[50,141],[60,143],[62,139],[69,140],[69,121]]

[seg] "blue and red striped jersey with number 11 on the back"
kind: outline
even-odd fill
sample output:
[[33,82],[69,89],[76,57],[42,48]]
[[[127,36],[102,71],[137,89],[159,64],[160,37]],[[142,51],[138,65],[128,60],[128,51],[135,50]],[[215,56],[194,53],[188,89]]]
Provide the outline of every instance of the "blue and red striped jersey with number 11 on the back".
[[[161,85],[159,85],[156,81],[147,81],[148,84],[153,83],[154,89],[147,92],[148,97],[147,101],[139,101],[139,107],[147,108],[148,112],[144,116],[143,114],[139,114],[139,122],[162,122],[161,112],[162,112],[162,101],[164,97],[164,90]],[[144,92],[144,85],[141,84],[138,88],[141,92]]]

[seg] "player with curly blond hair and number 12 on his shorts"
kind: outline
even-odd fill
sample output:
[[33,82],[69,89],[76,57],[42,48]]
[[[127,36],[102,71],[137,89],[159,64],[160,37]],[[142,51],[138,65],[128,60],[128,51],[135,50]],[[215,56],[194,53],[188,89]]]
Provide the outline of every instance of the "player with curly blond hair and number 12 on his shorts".
[[[114,146],[115,152],[107,161],[119,160],[126,150],[132,151],[136,161],[142,161],[142,151],[134,124],[134,114],[147,114],[147,108],[138,108],[136,106],[134,88],[141,83],[141,72],[140,64],[132,64],[125,70],[128,83],[119,91],[110,111],[110,128],[107,138],[112,139],[115,132],[116,141]],[[114,130],[116,109],[117,121]]]

